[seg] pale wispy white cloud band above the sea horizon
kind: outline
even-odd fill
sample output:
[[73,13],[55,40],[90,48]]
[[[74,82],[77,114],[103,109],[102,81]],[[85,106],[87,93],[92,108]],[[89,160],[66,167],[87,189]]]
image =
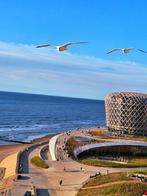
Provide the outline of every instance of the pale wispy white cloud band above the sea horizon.
[[0,90],[103,99],[147,92],[147,66],[0,42]]

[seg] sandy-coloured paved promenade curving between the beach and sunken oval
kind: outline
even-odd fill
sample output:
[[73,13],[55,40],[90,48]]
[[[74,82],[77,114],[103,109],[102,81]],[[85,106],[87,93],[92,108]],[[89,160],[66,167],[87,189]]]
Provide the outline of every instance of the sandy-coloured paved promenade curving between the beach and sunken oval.
[[48,169],[37,168],[30,162],[31,157],[39,155],[41,148],[44,148],[46,144],[38,144],[24,151],[20,160],[22,178],[15,182],[12,196],[22,196],[31,185],[37,188],[40,196],[49,196],[49,194],[51,196],[75,196],[92,174],[97,172],[106,174],[107,170],[110,173],[130,170],[130,168],[92,167],[72,160],[65,151],[65,144],[69,137],[76,134],[77,132],[64,133],[53,137],[52,142],[49,143],[52,155],[48,156]]

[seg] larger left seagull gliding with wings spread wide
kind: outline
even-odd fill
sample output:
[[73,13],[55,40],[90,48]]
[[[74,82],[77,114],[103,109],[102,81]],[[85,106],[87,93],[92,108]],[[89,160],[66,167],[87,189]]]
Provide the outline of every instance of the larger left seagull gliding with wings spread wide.
[[42,48],[42,47],[48,47],[48,46],[53,46],[55,47],[58,51],[62,52],[64,50],[67,50],[69,46],[73,45],[73,44],[86,44],[88,42],[69,42],[69,43],[66,43],[64,45],[61,45],[61,46],[57,46],[55,44],[44,44],[44,45],[39,45],[39,46],[36,46],[36,48]]

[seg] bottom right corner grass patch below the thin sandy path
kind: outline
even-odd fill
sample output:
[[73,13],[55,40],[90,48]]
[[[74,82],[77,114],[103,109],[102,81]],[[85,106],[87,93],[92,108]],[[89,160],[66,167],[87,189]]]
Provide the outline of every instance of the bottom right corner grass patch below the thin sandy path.
[[125,182],[97,189],[80,190],[77,196],[141,196],[147,185],[141,182]]

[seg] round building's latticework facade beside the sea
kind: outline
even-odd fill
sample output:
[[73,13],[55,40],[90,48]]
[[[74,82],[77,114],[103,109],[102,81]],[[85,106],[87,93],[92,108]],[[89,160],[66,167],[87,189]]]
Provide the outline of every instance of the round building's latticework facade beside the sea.
[[106,96],[105,108],[109,131],[147,135],[147,94],[112,93]]

